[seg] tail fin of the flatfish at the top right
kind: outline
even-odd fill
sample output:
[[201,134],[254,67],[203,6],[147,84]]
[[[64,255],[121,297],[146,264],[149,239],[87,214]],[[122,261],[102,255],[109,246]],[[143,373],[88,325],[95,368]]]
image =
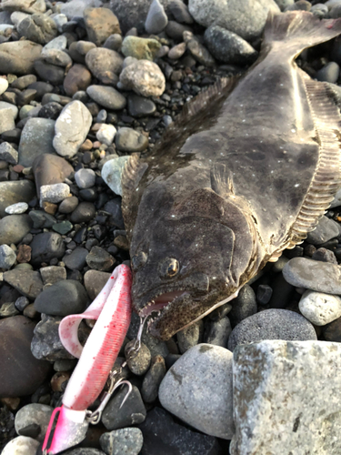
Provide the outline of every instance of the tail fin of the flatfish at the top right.
[[341,34],[341,18],[322,19],[306,11],[270,14],[266,21],[264,45],[280,45],[281,52],[295,58],[306,47],[324,43]]

